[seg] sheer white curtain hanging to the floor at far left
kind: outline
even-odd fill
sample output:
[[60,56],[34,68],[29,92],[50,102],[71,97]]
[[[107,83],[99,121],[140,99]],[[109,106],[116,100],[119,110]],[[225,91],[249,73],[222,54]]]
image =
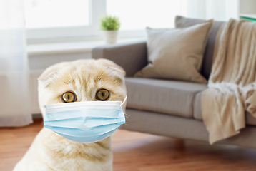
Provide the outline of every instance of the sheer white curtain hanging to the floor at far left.
[[0,126],[32,123],[22,0],[0,0]]

